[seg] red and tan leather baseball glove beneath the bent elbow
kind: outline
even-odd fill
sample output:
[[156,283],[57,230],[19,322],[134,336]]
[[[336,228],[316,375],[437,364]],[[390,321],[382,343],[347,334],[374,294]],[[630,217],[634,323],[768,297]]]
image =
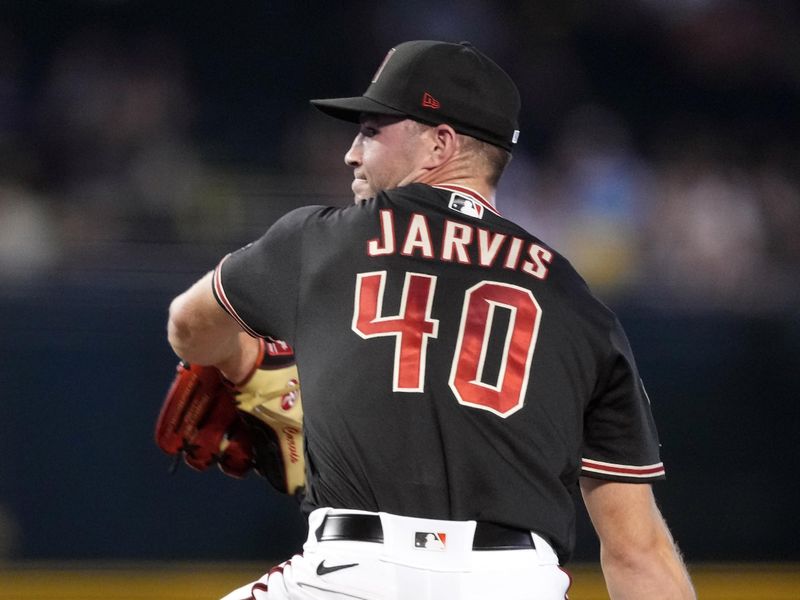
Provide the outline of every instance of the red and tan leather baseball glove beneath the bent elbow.
[[156,444],[204,471],[232,477],[250,469],[280,492],[305,486],[303,407],[292,349],[259,340],[252,373],[233,385],[215,367],[180,363],[156,423]]

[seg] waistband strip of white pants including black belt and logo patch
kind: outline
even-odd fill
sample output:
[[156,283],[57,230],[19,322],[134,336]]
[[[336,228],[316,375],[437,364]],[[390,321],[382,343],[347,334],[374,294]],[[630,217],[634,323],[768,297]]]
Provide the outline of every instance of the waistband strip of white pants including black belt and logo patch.
[[537,550],[540,554],[552,554],[555,557],[550,544],[535,532],[485,521],[447,521],[387,513],[330,510],[316,530],[319,542],[383,544],[387,537],[401,537],[407,541],[413,539],[417,547],[460,543],[472,550]]

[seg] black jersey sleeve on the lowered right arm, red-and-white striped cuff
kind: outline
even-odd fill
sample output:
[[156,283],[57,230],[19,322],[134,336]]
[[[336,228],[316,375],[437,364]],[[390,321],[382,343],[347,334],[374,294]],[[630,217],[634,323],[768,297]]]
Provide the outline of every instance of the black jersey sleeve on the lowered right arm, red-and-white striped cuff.
[[664,479],[650,400],[616,319],[610,342],[607,362],[584,415],[581,475],[623,482]]

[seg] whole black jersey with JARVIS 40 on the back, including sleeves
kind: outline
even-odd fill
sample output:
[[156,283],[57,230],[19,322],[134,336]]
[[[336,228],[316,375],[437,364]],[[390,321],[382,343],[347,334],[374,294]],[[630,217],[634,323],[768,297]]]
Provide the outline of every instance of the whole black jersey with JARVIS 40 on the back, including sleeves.
[[566,559],[579,475],[663,477],[616,317],[471,190],[295,210],[223,259],[214,292],[295,348],[309,509],[492,521]]

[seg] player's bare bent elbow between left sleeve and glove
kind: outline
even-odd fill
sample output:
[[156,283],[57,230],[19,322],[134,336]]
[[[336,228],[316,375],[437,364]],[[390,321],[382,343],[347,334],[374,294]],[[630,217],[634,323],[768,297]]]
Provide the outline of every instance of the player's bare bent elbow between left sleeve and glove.
[[167,338],[175,353],[191,364],[215,366],[230,381],[244,379],[259,352],[247,334],[214,298],[213,273],[175,298],[169,307]]

